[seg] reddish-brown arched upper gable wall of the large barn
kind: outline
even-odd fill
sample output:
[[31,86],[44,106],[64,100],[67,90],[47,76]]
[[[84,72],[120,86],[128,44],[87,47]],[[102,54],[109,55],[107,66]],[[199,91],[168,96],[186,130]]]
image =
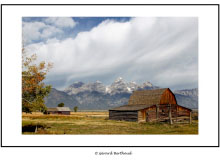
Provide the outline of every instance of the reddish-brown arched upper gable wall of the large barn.
[[174,94],[169,89],[164,91],[160,104],[177,104]]

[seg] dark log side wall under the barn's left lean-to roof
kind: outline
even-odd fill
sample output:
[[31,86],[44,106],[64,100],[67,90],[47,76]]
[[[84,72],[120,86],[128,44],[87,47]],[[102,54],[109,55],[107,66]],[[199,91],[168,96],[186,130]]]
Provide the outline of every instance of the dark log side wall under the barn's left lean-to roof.
[[109,111],[110,120],[138,121],[137,111]]

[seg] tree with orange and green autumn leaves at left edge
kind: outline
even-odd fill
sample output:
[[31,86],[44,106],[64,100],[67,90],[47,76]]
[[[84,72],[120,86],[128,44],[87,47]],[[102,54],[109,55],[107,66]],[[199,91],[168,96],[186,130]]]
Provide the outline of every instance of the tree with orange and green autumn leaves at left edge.
[[45,85],[42,81],[51,69],[52,64],[44,61],[36,64],[37,56],[33,54],[27,56],[22,49],[22,111],[33,112],[47,110],[44,98],[51,90],[50,85]]

